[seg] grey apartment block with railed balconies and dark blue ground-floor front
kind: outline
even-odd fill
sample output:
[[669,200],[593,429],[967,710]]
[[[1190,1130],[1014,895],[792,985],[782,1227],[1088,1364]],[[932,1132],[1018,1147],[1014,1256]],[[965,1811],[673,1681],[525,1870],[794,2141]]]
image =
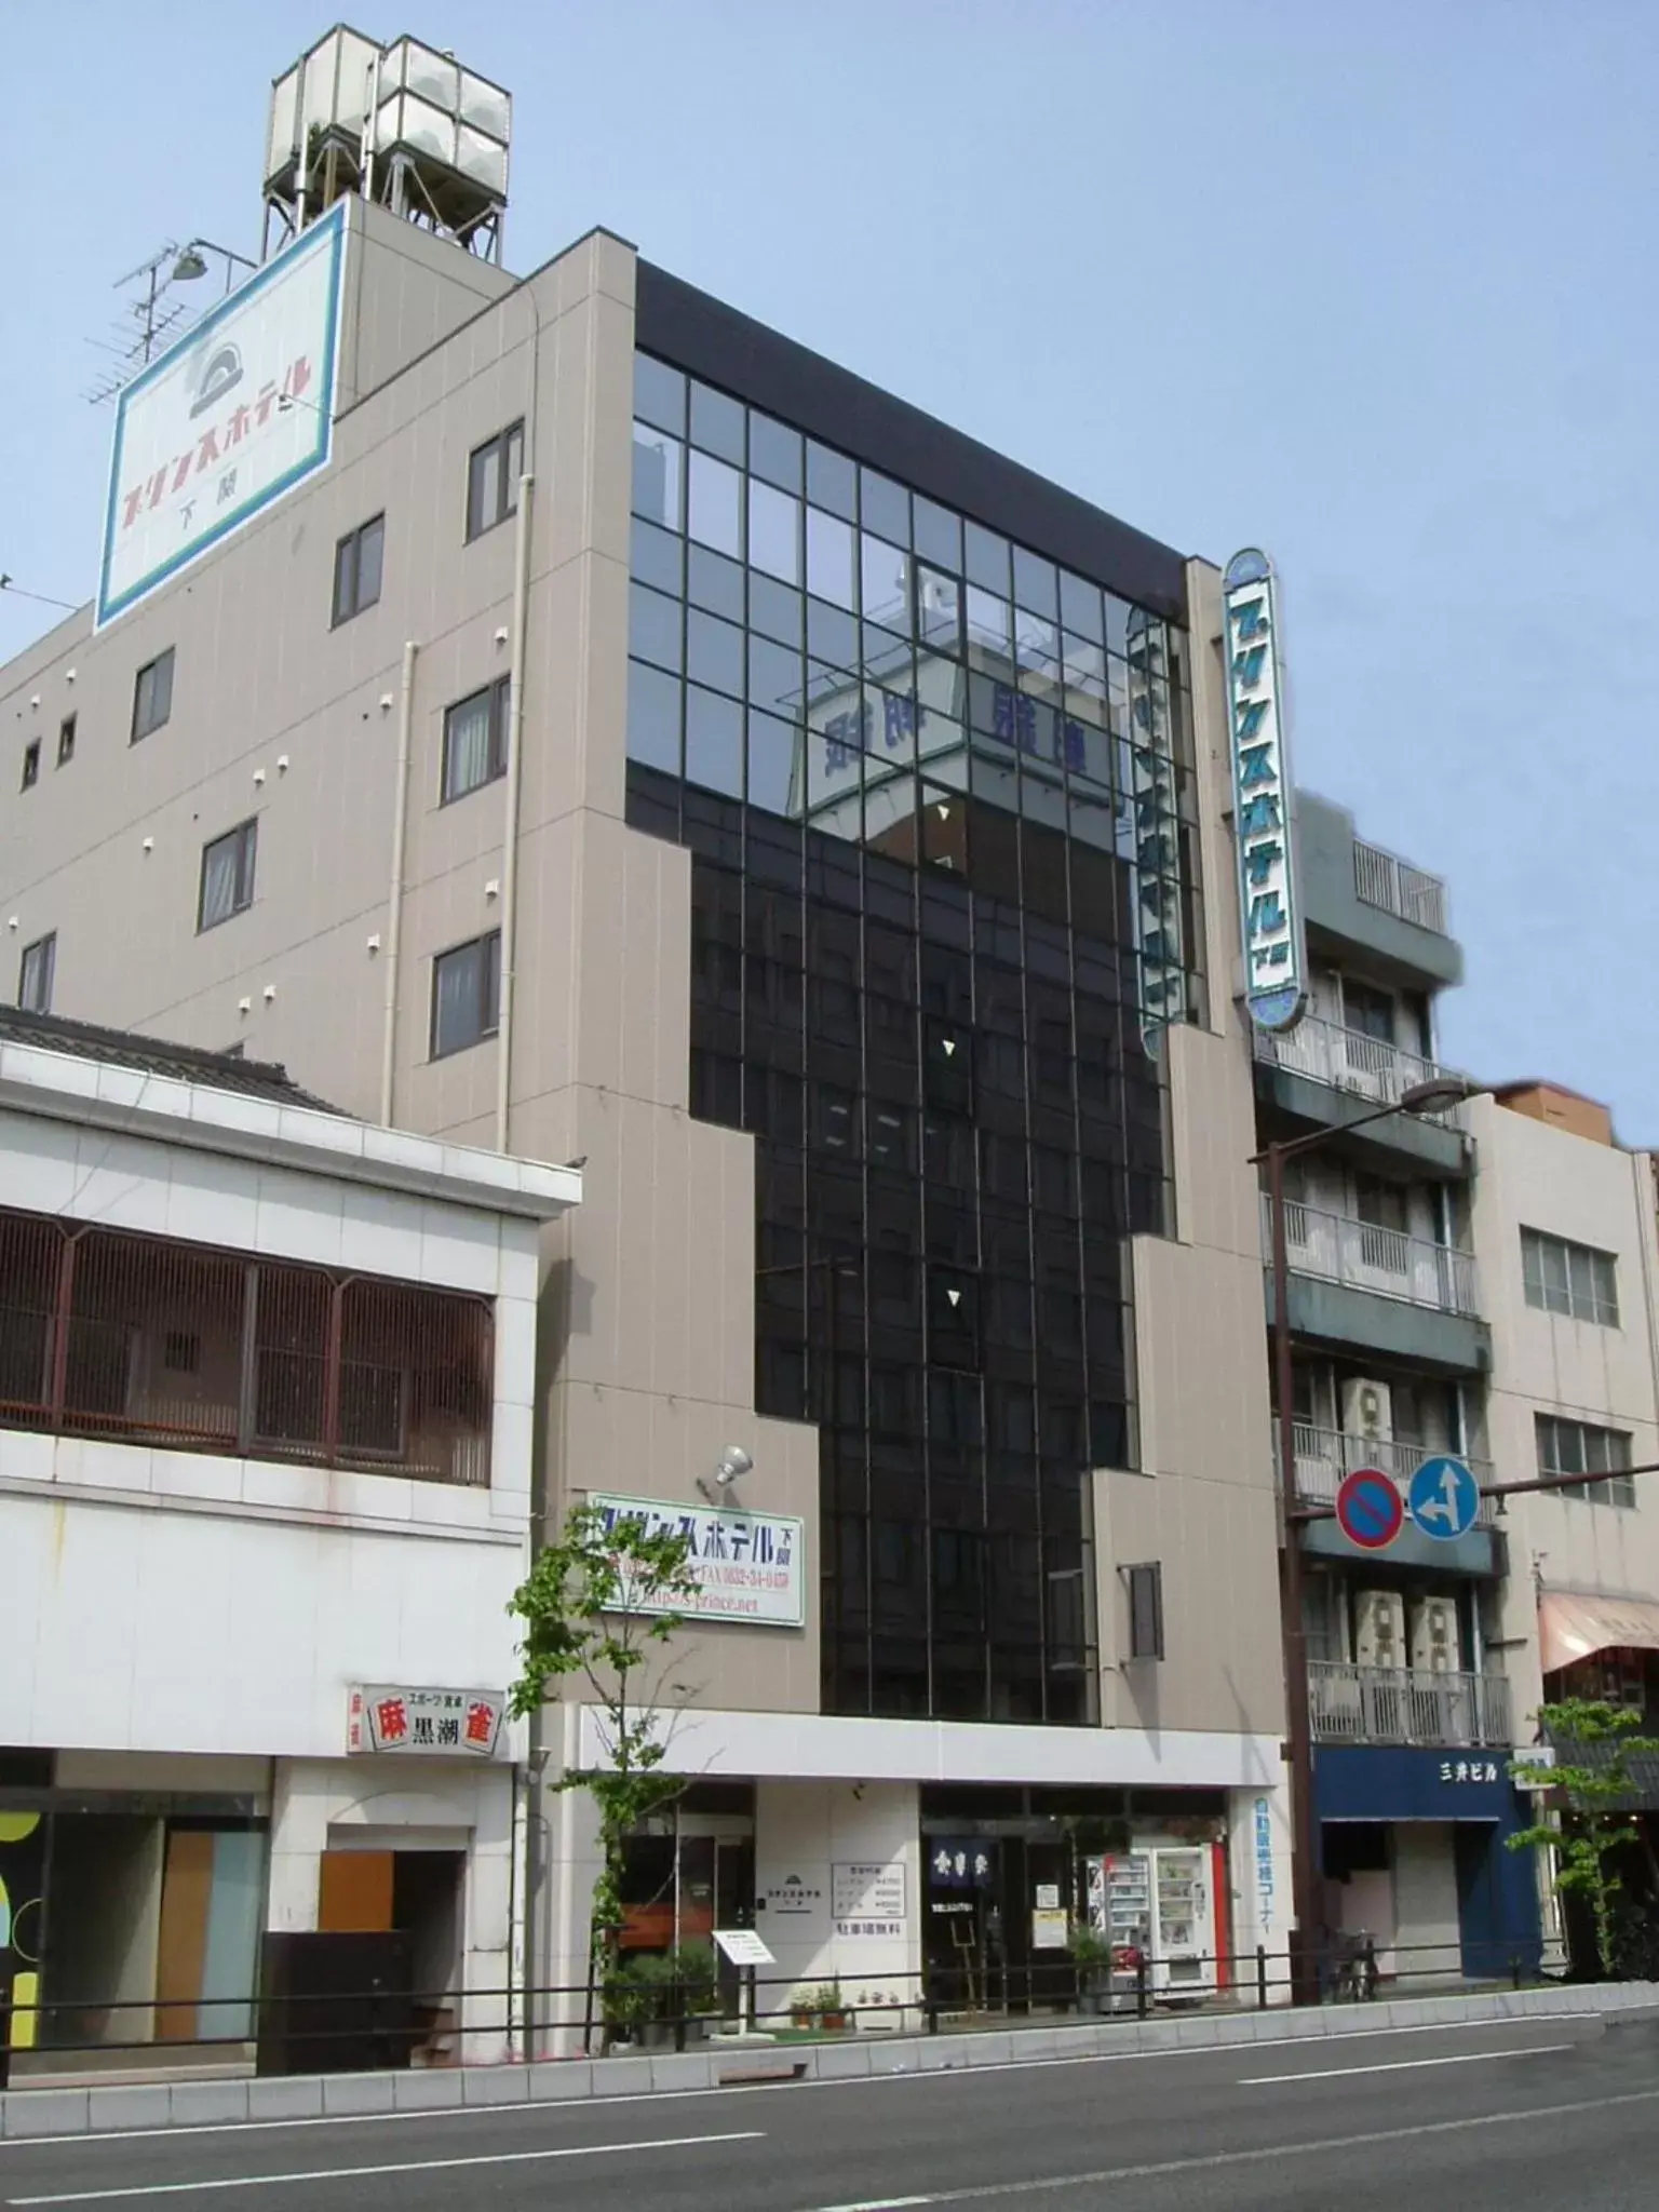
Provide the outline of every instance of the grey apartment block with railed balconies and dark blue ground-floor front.
[[[1440,1073],[1436,995],[1462,975],[1444,887],[1312,794],[1298,849],[1310,1011],[1254,1040],[1263,1141],[1327,1137],[1285,1168],[1298,1491],[1329,1504],[1365,1467],[1405,1491],[1436,1453],[1513,1480],[1478,1219],[1502,1172],[1498,1110],[1343,1128]],[[1453,1542],[1409,1520],[1378,1553],[1334,1520],[1301,1531],[1325,1918],[1371,1936],[1385,1975],[1493,1973],[1537,1953],[1533,1874],[1506,1847],[1531,1812],[1506,1767],[1528,1739],[1515,1736],[1524,1679],[1504,1668],[1515,1559],[1498,1528],[1486,1500]]]

